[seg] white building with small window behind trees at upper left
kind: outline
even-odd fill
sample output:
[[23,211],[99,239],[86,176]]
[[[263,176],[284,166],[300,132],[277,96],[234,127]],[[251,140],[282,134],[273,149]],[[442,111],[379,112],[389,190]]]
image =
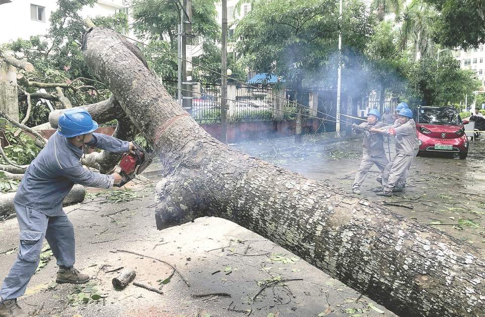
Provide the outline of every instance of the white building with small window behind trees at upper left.
[[[12,0],[0,6],[0,44],[19,38],[43,35],[49,30],[49,18],[57,9],[57,0]],[[126,10],[124,0],[98,0],[92,8],[86,6],[80,15],[85,17],[109,16]]]

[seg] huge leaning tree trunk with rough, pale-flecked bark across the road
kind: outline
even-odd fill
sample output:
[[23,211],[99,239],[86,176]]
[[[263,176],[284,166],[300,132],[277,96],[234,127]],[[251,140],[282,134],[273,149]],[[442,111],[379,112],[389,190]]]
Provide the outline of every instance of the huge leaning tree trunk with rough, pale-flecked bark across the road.
[[485,311],[481,249],[222,144],[187,116],[112,30],[90,30],[83,51],[165,167],[156,187],[158,229],[222,217],[402,316]]

